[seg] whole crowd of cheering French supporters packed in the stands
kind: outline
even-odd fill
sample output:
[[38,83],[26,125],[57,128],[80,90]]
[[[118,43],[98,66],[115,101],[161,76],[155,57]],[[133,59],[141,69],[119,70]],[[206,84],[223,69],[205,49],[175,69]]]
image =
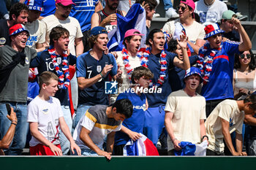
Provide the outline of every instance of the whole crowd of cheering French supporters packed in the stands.
[[[157,0],[12,2],[0,11],[0,155],[27,141],[31,155],[110,160],[142,135],[168,155],[182,142],[256,154],[255,55],[225,2],[164,0],[169,20],[152,30]],[[142,30],[118,26],[133,7]],[[117,30],[123,49],[110,53]]]

